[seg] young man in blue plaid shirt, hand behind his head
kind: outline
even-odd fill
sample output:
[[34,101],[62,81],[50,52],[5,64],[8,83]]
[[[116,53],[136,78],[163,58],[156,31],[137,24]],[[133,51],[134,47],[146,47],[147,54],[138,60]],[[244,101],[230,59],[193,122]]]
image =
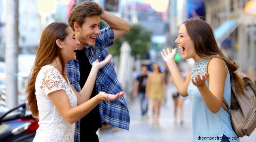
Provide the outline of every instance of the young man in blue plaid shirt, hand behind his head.
[[[109,27],[100,30],[100,19]],[[77,59],[69,61],[66,70],[70,83],[80,91],[87,80],[92,63],[96,59],[102,61],[107,57],[106,47],[111,46],[113,40],[126,34],[130,30],[130,23],[104,11],[97,3],[91,1],[77,4],[68,17],[68,23],[80,45],[76,50]],[[98,71],[92,95],[88,97],[94,97],[99,91],[113,94],[121,91],[111,63]],[[98,142],[96,131],[102,127],[104,121],[115,127],[129,129],[130,116],[124,97],[113,102],[101,102],[80,122],[78,121],[75,142]]]

